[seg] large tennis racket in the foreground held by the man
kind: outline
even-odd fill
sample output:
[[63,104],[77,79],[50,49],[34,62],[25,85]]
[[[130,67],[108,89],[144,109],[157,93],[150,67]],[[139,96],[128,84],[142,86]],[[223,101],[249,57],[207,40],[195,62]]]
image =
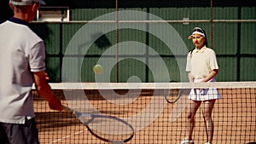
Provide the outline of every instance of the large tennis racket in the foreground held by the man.
[[109,143],[125,143],[131,141],[134,129],[125,120],[113,116],[77,112],[72,108],[62,106],[63,110],[74,114],[77,118],[86,120],[84,125],[90,134]]

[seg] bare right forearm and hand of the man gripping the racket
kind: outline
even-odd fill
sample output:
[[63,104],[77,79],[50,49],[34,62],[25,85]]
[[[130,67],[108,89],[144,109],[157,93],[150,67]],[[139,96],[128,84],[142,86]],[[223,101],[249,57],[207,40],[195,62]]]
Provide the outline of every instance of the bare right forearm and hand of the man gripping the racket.
[[45,101],[49,102],[49,107],[53,110],[61,111],[61,101],[55,97],[50,86],[47,82],[48,76],[46,72],[33,72],[34,81],[36,88],[38,90],[38,95],[40,95]]

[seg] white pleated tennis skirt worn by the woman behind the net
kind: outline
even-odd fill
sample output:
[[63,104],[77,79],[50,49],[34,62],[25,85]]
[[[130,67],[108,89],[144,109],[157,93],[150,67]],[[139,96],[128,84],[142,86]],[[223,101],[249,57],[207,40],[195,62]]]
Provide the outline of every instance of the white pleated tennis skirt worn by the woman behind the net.
[[[201,79],[195,79],[194,83],[200,83]],[[215,82],[212,78],[208,83]],[[218,89],[191,89],[189,93],[189,100],[193,101],[208,101],[221,99],[222,96],[219,94]]]

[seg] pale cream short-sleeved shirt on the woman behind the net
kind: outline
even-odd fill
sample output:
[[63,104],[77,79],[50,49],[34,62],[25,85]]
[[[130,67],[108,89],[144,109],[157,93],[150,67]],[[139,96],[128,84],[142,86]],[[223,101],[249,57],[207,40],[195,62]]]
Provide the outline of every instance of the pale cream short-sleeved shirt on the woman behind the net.
[[188,54],[186,71],[191,72],[193,78],[205,78],[212,70],[218,69],[215,52],[212,49],[203,47],[194,49]]

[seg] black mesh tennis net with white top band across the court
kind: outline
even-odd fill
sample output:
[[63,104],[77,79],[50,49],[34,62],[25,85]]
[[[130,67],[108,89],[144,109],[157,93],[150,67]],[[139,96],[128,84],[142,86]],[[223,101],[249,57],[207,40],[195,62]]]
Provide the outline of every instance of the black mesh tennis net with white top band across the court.
[[[135,136],[127,143],[179,143],[186,136],[185,107],[188,92],[175,101],[180,89],[218,89],[222,99],[212,111],[212,143],[250,143],[256,141],[256,82],[215,83],[61,83],[50,84],[63,105],[77,111],[122,118],[131,124]],[[188,90],[189,89],[189,90]],[[32,90],[41,143],[105,143],[90,135],[83,123],[68,112],[49,109]],[[195,114],[193,139],[207,141],[202,112]]]

